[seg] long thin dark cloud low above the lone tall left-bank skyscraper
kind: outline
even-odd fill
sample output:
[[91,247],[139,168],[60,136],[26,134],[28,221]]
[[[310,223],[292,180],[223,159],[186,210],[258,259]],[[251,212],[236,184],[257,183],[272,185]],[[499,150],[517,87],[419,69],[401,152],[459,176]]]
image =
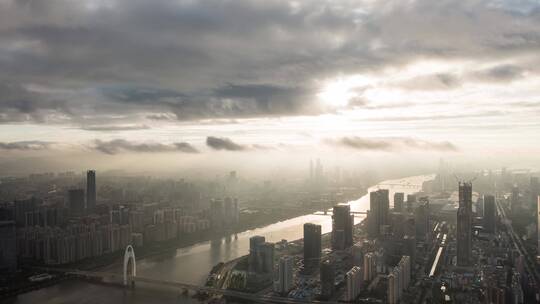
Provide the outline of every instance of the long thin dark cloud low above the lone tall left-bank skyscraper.
[[105,154],[117,154],[119,152],[157,153],[157,152],[184,152],[199,153],[192,145],[186,142],[173,144],[161,143],[136,143],[124,139],[111,141],[95,140],[93,148]]

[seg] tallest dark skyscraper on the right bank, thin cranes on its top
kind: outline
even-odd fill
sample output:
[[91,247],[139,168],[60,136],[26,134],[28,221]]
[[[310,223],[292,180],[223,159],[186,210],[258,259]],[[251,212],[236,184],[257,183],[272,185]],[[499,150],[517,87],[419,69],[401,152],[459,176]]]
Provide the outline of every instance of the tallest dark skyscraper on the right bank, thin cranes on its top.
[[472,254],[472,184],[459,183],[459,208],[457,212],[457,264],[468,266]]

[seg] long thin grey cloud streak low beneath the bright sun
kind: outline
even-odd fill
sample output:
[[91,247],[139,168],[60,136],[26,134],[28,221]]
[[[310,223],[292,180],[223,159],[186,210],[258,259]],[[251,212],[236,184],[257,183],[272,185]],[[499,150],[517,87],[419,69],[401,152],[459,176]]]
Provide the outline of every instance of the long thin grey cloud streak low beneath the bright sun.
[[451,142],[430,142],[412,138],[363,138],[352,136],[338,139],[326,139],[324,142],[331,146],[341,146],[362,151],[402,151],[406,148],[447,152],[455,152],[458,150]]

